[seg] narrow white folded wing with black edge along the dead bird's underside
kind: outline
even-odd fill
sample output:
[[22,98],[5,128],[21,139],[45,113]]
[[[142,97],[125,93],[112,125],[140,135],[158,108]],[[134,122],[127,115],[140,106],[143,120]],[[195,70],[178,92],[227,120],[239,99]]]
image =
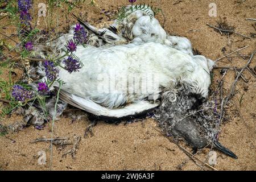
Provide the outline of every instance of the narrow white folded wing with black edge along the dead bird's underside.
[[[54,88],[56,90],[59,90],[57,86],[55,86]],[[88,113],[96,115],[97,117],[105,119],[134,118],[139,115],[146,114],[149,111],[152,111],[155,107],[159,106],[159,102],[151,104],[148,101],[138,101],[122,108],[109,109],[93,102],[89,98],[81,98],[64,90],[60,90],[59,97],[61,100],[67,102],[72,106],[75,106],[79,109],[87,111]]]

